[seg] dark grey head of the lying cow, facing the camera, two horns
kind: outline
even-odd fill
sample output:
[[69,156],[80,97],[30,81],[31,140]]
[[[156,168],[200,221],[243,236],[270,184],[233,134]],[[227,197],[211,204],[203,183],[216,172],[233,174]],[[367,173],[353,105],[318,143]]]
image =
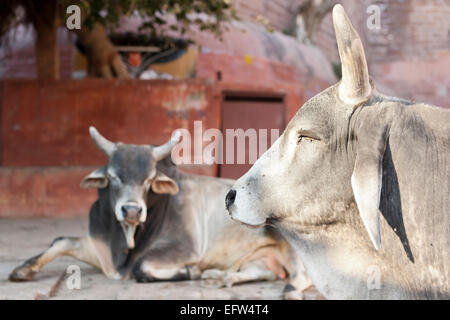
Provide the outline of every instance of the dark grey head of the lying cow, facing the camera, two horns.
[[111,142],[94,127],[89,128],[92,140],[108,157],[108,163],[81,181],[82,188],[105,189],[109,205],[121,224],[127,245],[134,248],[138,224],[147,219],[147,195],[150,189],[159,194],[178,193],[177,183],[156,168],[177,144],[180,134],[161,146],[129,145]]

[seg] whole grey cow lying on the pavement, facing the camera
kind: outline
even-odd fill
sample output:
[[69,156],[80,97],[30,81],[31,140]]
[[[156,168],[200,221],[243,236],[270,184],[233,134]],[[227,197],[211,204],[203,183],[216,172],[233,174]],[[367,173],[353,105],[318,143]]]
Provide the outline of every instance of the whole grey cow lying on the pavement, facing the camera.
[[291,297],[310,285],[275,229],[251,229],[228,217],[224,198],[233,181],[175,168],[170,154],[179,134],[161,146],[114,143],[93,127],[90,134],[109,162],[81,182],[98,188],[89,234],[56,238],[17,267],[11,281],[32,280],[45,264],[66,255],[111,279],[203,279],[204,285],[229,287],[289,277]]

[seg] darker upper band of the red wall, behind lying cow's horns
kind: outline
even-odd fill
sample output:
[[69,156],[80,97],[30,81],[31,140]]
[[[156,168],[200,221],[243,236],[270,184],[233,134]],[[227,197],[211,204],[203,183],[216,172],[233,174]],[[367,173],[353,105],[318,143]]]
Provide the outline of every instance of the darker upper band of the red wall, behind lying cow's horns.
[[91,125],[134,144],[161,144],[194,120],[219,125],[219,92],[202,81],[21,80],[1,87],[2,166],[101,164],[106,156],[91,141]]

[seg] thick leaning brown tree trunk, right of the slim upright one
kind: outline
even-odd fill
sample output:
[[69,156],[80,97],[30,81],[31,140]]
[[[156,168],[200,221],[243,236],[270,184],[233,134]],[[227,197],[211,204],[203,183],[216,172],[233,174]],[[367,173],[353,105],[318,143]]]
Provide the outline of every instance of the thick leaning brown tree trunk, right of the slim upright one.
[[78,40],[86,50],[89,76],[106,79],[131,78],[103,25],[96,23],[92,30],[82,26],[76,32]]

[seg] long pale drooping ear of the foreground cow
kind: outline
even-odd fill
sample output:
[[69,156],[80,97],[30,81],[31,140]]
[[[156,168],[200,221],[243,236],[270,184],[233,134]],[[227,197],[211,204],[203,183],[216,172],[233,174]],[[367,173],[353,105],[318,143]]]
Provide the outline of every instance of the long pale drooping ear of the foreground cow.
[[358,136],[355,167],[351,178],[359,215],[375,249],[381,248],[380,197],[383,179],[385,132],[366,132]]

